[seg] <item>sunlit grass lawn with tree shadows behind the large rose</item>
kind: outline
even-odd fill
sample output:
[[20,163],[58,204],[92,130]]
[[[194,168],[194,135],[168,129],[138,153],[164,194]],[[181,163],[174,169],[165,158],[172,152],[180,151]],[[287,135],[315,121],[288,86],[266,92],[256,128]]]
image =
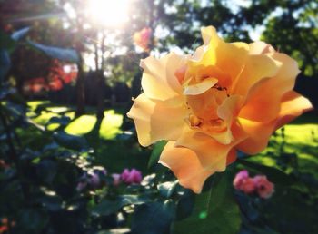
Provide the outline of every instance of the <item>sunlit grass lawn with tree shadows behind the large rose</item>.
[[[122,109],[106,110],[102,122],[97,122],[94,115],[94,108],[87,108],[88,112],[79,118],[75,118],[74,108],[58,106],[48,101],[28,102],[31,112],[39,106],[44,110],[40,115],[34,116],[33,120],[41,125],[53,116],[64,113],[70,117],[71,122],[66,126],[65,132],[75,135],[83,135],[91,146],[93,146],[96,157],[95,162],[103,164],[111,171],[121,171],[127,166],[142,167],[146,170],[146,163],[149,157],[149,151],[138,146],[137,141],[114,141],[116,135],[121,133],[120,126],[123,122],[124,111]],[[49,130],[54,130],[58,124],[50,124]],[[313,114],[305,114],[294,122],[284,126],[285,144],[284,151],[288,153],[297,153],[299,156],[299,165],[303,171],[312,171],[314,174],[318,168],[317,146],[318,146],[318,118]],[[278,145],[282,143],[282,130],[278,130],[272,137]],[[276,144],[276,146],[277,146]],[[253,161],[262,162],[265,165],[275,165],[276,161],[269,153],[276,151],[273,146],[252,158]],[[114,163],[114,161],[116,163]]]

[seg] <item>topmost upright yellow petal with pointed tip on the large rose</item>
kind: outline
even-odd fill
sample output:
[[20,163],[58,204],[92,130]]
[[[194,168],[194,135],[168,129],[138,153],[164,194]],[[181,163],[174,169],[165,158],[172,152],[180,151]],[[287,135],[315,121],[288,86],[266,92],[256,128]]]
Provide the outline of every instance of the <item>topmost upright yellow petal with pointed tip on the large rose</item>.
[[222,71],[230,74],[232,79],[241,73],[245,59],[248,54],[248,44],[225,43],[216,33],[213,26],[201,28],[204,38],[204,52],[201,50],[201,57],[196,53],[195,60],[190,61],[192,65],[215,65]]

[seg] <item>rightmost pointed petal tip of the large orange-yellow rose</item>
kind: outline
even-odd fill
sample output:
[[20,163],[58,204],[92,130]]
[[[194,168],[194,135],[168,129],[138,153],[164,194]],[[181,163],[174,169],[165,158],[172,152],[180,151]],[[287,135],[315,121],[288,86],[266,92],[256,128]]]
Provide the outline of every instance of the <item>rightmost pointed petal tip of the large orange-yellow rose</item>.
[[301,94],[294,91],[285,93],[275,129],[282,127],[283,124],[291,122],[299,115],[311,110],[313,110],[312,103]]

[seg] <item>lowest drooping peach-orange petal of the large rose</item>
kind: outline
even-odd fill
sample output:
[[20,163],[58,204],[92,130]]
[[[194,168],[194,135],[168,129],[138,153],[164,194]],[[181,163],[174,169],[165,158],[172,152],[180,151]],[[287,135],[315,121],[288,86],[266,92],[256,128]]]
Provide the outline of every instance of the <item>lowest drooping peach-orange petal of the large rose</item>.
[[174,147],[174,141],[169,141],[165,145],[159,162],[174,172],[184,188],[195,193],[201,192],[204,181],[215,172],[213,168],[204,167],[194,151]]

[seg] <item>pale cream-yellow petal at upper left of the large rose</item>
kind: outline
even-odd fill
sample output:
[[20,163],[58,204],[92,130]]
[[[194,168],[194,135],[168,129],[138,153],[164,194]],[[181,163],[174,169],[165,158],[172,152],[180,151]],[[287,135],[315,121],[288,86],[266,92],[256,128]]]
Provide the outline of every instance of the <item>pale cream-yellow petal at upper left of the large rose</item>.
[[142,60],[144,68],[142,86],[147,97],[166,101],[182,94],[183,89],[174,75],[175,71],[184,66],[184,56],[167,54],[160,59],[152,56]]

